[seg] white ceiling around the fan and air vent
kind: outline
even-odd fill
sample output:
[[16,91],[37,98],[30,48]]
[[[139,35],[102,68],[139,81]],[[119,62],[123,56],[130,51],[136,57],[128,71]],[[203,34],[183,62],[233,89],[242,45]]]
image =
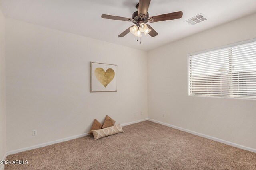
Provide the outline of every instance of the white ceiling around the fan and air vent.
[[[256,12],[256,0],[151,0],[150,16],[182,11],[183,17],[150,23],[159,34],[143,36],[140,44],[131,33],[118,37],[132,23],[101,18],[102,14],[131,18],[137,3],[138,0],[0,0],[0,8],[7,18],[145,51]],[[184,22],[199,13],[208,20],[193,26]]]

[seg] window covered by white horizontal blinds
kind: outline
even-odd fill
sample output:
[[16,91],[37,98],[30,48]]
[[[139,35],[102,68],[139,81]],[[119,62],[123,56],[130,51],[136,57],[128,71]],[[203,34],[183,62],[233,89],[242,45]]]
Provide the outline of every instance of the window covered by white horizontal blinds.
[[256,99],[256,39],[188,56],[188,95]]

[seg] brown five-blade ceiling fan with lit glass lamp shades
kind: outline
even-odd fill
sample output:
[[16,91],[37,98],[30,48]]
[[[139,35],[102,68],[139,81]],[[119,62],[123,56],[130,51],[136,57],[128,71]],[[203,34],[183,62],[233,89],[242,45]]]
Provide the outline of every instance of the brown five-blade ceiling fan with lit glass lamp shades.
[[148,7],[150,4],[150,0],[140,0],[139,3],[136,5],[138,11],[135,11],[132,14],[132,18],[125,18],[120,16],[111,16],[103,14],[101,17],[111,20],[120,20],[120,21],[128,21],[133,22],[135,25],[132,25],[124,32],[122,32],[118,37],[124,37],[129,32],[133,33],[136,37],[141,37],[141,33],[144,32],[145,35],[149,34],[151,37],[155,37],[158,33],[148,24],[148,22],[159,22],[159,21],[167,21],[167,20],[174,20],[179,19],[182,17],[183,12],[172,12],[168,14],[162,14],[158,16],[149,16],[148,14]]

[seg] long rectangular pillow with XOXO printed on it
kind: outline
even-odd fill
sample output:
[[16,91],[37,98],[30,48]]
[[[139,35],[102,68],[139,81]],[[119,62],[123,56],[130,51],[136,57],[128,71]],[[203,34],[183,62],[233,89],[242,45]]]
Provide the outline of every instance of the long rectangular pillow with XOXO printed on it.
[[121,132],[124,132],[124,131],[120,124],[111,126],[111,127],[107,127],[104,129],[100,129],[100,130],[92,130],[94,140],[97,140],[97,139],[100,139],[102,137],[106,137],[109,135],[114,135],[116,133],[121,133]]

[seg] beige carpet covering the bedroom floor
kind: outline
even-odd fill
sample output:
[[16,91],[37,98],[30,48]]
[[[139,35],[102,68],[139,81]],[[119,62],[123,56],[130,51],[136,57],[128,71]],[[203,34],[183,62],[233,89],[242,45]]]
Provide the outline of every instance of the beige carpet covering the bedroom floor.
[[256,153],[144,121],[124,133],[92,136],[7,156],[5,170],[256,170]]

